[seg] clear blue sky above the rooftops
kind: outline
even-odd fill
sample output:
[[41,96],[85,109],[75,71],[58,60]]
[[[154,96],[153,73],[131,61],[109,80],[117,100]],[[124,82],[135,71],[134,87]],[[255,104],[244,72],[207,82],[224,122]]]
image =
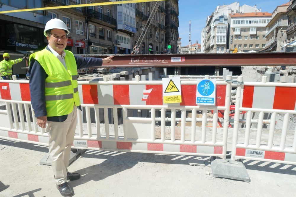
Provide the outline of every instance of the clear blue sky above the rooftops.
[[[191,20],[191,41],[200,43],[202,28],[205,27],[207,17],[214,12],[218,5],[227,5],[235,0],[179,0],[179,37],[181,46],[189,44],[189,20]],[[238,0],[239,5],[257,5],[262,12],[272,13],[278,5],[288,3],[289,0]]]

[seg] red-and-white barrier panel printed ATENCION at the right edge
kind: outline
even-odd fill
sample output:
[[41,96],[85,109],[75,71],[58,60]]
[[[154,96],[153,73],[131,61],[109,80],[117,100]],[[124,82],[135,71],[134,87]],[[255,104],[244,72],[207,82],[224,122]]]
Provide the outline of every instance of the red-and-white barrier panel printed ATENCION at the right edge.
[[[239,77],[238,80],[242,80],[242,77]],[[279,162],[284,164],[296,164],[296,135],[295,131],[294,133],[294,139],[292,143],[287,142],[287,127],[289,122],[289,115],[290,114],[296,114],[295,109],[295,93],[294,92],[284,92],[284,91],[276,91],[274,92],[273,96],[266,96],[268,99],[264,99],[264,102],[267,104],[264,104],[264,106],[255,105],[252,107],[243,106],[243,100],[246,99],[245,97],[250,97],[250,95],[244,95],[243,94],[243,88],[244,86],[251,86],[254,87],[254,94],[257,92],[258,95],[260,95],[260,92],[258,90],[265,92],[265,94],[268,94],[274,90],[274,88],[279,88],[281,90],[295,90],[296,89],[296,83],[265,83],[266,82],[266,76],[263,77],[263,82],[245,82],[244,85],[238,85],[237,86],[237,97],[236,97],[236,103],[235,103],[235,115],[234,115],[234,133],[233,133],[233,141],[232,141],[232,154],[231,159],[237,160],[237,159],[255,159],[259,161],[266,161],[266,162]],[[257,90],[255,91],[255,88]],[[265,90],[265,91],[264,91]],[[279,94],[285,94],[282,95],[282,105],[277,104],[275,107],[276,102],[279,103],[281,101],[274,99],[279,98]],[[292,97],[293,99],[284,101],[285,97]],[[256,95],[254,95],[255,99]],[[290,97],[290,98],[291,98]],[[253,99],[253,105],[254,102],[256,102]],[[256,98],[256,99],[263,99]],[[258,102],[258,101],[257,101]],[[258,103],[260,103],[259,101]],[[290,103],[290,107],[287,107],[287,102]],[[261,102],[262,103],[262,102]],[[269,104],[268,104],[269,103]],[[273,104],[273,106],[272,106]],[[250,103],[251,105],[251,103]],[[266,106],[270,107],[266,107]],[[258,108],[260,106],[261,108]],[[292,108],[291,108],[292,106]],[[270,109],[271,108],[271,109]],[[282,109],[273,109],[273,108],[282,108]],[[285,109],[286,108],[286,109]],[[245,125],[245,131],[244,131],[244,139],[240,140],[240,143],[238,143],[238,133],[239,133],[239,118],[240,118],[240,112],[247,112],[246,114],[246,125]],[[258,114],[258,124],[257,124],[257,132],[256,136],[250,135],[250,128],[251,128],[251,119],[254,113]],[[263,135],[263,117],[265,114],[271,114],[270,118],[270,126],[268,131],[268,141],[263,142],[262,141],[262,135]],[[283,118],[283,127],[281,128],[281,133],[278,136],[276,135],[275,125],[276,125],[276,116],[277,114],[284,114]],[[243,141],[243,143],[242,143]]]

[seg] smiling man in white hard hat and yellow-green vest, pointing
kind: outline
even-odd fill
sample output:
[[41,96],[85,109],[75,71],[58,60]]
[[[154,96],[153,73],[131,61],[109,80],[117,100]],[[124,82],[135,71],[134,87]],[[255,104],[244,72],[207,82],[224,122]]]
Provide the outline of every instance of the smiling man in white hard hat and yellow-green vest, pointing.
[[[80,174],[68,172],[71,146],[77,122],[77,69],[102,66],[112,57],[74,56],[65,50],[69,30],[64,22],[52,19],[45,25],[48,46],[30,55],[30,96],[37,124],[49,133],[49,156],[54,181],[62,196],[73,196],[67,180],[77,180]],[[48,124],[46,127],[46,123]]]

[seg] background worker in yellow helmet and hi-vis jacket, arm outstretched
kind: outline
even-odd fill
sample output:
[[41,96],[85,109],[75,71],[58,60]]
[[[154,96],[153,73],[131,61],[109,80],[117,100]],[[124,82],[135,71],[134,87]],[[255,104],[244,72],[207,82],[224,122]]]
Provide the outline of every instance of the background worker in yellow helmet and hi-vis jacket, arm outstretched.
[[0,62],[0,76],[2,79],[11,79],[12,75],[12,65],[17,64],[21,62],[26,57],[15,59],[15,60],[9,60],[9,54],[4,53],[3,54],[3,60]]

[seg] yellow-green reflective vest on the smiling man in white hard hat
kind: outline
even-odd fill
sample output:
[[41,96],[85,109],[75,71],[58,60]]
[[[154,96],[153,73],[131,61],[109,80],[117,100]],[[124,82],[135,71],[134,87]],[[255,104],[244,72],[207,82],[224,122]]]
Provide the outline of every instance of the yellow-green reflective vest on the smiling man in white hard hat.
[[64,51],[67,70],[47,49],[31,54],[29,59],[29,62],[36,59],[48,75],[45,79],[45,103],[49,117],[70,114],[74,104],[80,105],[75,57],[71,51]]

